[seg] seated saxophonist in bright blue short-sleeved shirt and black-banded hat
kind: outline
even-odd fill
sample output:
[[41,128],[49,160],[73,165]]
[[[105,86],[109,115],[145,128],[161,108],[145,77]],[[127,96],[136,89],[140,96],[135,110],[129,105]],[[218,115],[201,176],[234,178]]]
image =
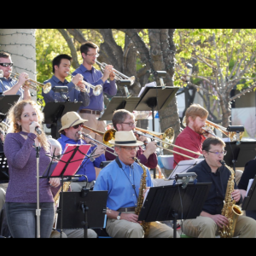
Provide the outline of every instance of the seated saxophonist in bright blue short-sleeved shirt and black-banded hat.
[[149,231],[144,234],[137,220],[135,207],[138,206],[137,202],[143,200],[143,195],[139,195],[143,172],[147,172],[143,182],[147,187],[153,187],[148,168],[134,160],[137,147],[143,145],[143,142],[137,141],[132,131],[117,131],[115,139],[109,143],[114,145],[118,157],[102,169],[94,186],[94,191],[108,190],[108,235],[117,238],[173,237],[172,228],[159,222],[151,222]]

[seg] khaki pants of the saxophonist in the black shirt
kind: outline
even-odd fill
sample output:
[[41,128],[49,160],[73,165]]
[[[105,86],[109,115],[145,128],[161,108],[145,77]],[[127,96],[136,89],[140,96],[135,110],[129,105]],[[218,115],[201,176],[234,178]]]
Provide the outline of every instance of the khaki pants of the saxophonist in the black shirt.
[[[212,218],[199,216],[183,222],[183,232],[187,236],[214,238],[219,236],[218,225]],[[234,236],[256,238],[256,221],[253,218],[239,216],[236,221]]]

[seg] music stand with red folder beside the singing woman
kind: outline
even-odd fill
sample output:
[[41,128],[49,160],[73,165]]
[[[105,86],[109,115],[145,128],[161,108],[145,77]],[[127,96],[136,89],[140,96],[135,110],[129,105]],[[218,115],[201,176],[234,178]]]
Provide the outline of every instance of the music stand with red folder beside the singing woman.
[[[85,155],[90,149],[90,145],[73,145],[66,144],[64,153],[61,156],[61,159],[56,162],[51,161],[49,167],[46,169],[46,176],[40,178],[49,178],[49,177],[61,177],[63,180],[64,177],[75,177],[74,174],[79,170],[82,161],[84,160]],[[53,160],[53,157],[51,157]],[[53,167],[54,166],[54,170]],[[51,172],[52,171],[52,172]],[[44,173],[45,173],[44,172]],[[51,173],[50,173],[51,172]],[[61,192],[63,193],[63,183],[61,185]],[[62,202],[63,206],[63,202]],[[62,214],[61,211],[61,223],[62,223]],[[62,227],[61,227],[61,237],[62,237]]]

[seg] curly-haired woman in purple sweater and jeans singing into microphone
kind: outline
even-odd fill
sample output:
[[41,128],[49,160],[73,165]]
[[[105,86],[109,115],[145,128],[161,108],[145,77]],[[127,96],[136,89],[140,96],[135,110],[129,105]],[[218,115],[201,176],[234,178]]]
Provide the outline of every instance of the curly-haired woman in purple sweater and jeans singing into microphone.
[[[39,175],[49,166],[50,146],[42,129],[44,113],[33,101],[17,102],[9,110],[9,133],[5,137],[4,154],[9,164],[9,185],[6,191],[6,215],[12,237],[35,238],[37,210],[37,150]],[[37,131],[36,131],[37,130]],[[59,178],[39,180],[40,237],[49,237],[55,217],[50,185],[60,185]]]

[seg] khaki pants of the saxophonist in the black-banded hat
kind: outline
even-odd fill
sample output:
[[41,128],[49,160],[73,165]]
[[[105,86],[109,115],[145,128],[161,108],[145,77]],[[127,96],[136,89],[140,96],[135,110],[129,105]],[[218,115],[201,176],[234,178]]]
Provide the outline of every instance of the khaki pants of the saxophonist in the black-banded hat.
[[[144,231],[140,224],[132,223],[125,219],[108,219],[106,231],[108,235],[113,238],[144,237]],[[177,237],[179,236],[177,235]],[[160,222],[151,222],[148,236],[145,236],[145,238],[173,238],[173,230],[166,224],[161,224]]]

